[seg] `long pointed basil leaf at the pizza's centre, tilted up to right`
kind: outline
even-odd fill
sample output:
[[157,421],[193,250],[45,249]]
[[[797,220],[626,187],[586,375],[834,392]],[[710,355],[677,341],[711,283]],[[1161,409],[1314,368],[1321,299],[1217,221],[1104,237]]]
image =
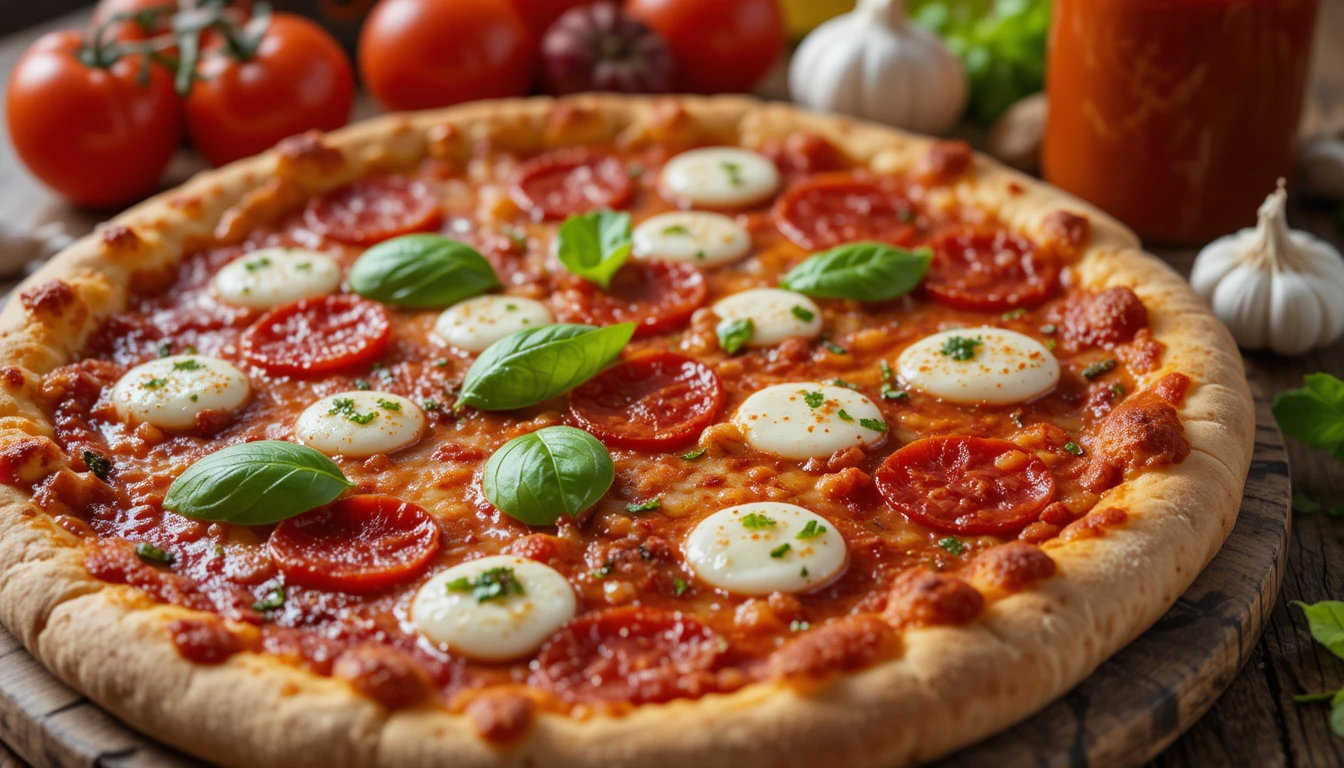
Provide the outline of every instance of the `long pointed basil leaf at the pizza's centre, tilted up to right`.
[[476,358],[462,379],[454,410],[512,410],[564,394],[616,359],[634,323],[543,325],[504,336]]

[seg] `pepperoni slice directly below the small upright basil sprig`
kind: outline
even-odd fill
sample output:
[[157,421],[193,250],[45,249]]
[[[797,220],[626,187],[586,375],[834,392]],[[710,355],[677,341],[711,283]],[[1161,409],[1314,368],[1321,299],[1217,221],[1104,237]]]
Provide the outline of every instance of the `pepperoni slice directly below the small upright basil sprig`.
[[616,273],[607,291],[575,280],[558,313],[566,323],[634,323],[636,336],[653,336],[685,323],[708,295],[704,274],[689,264],[632,261]]

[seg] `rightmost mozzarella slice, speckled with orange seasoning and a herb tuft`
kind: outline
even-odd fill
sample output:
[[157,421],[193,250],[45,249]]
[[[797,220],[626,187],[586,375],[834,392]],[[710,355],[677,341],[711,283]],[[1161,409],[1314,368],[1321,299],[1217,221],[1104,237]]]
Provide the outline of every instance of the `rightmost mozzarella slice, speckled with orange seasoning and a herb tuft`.
[[[943,354],[954,338],[969,359]],[[966,342],[980,340],[978,344]],[[965,355],[965,352],[962,352]],[[906,386],[960,404],[1003,405],[1046,394],[1059,382],[1059,360],[1044,344],[1004,328],[956,328],[925,336],[896,359]]]

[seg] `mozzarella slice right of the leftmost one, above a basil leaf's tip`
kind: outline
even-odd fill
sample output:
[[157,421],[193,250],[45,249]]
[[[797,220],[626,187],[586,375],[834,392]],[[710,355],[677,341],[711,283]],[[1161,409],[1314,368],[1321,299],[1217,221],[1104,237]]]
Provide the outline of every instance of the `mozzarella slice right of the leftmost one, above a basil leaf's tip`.
[[383,391],[343,391],[304,409],[294,422],[300,443],[328,456],[362,459],[391,453],[419,440],[425,412]]

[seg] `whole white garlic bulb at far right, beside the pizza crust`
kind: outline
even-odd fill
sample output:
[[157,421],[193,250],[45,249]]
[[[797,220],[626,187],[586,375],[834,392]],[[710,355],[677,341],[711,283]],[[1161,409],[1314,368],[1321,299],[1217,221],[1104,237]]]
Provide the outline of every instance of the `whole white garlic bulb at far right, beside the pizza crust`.
[[1242,347],[1301,355],[1344,334],[1344,260],[1325,241],[1289,230],[1286,202],[1279,179],[1259,226],[1204,246],[1189,282]]

